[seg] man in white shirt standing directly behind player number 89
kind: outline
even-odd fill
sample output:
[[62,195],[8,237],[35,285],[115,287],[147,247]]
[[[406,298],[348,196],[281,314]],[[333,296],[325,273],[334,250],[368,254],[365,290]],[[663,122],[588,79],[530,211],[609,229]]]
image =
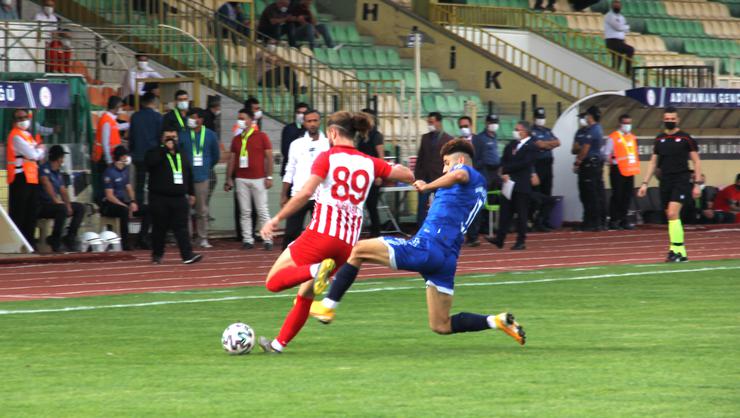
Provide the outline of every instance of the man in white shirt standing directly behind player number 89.
[[[298,194],[311,177],[311,167],[316,157],[331,147],[329,139],[319,130],[319,125],[321,125],[321,115],[317,110],[309,110],[304,114],[303,127],[306,133],[290,143],[288,164],[285,166],[285,176],[283,176],[283,192],[280,194],[280,206],[285,205],[289,194],[290,196]],[[303,222],[306,214],[313,211],[313,204],[313,199],[309,200],[301,210],[286,219],[283,250],[303,231]]]

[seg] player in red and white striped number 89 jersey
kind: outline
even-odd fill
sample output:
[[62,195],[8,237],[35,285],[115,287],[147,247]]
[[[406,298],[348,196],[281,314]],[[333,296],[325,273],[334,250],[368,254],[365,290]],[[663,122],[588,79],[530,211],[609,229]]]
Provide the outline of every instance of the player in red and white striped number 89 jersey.
[[355,139],[372,128],[365,113],[337,112],[329,116],[326,134],[332,143],[311,168],[311,177],[298,194],[262,228],[262,237],[271,239],[278,223],[302,208],[313,196],[313,219],[298,239],[278,257],[267,275],[267,289],[280,292],[300,285],[295,305],[280,333],[270,341],[260,337],[266,352],[282,352],[308,319],[314,296],[328,286],[329,277],[343,265],[362,229],[367,193],[376,178],[414,182],[414,175],[402,165],[365,155],[355,148]]

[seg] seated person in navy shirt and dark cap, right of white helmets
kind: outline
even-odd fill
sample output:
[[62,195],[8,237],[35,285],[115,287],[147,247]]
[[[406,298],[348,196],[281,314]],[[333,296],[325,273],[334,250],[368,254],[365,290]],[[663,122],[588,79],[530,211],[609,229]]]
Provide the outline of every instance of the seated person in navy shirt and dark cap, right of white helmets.
[[136,201],[134,188],[131,187],[129,166],[131,156],[125,146],[119,145],[113,150],[113,163],[103,173],[103,190],[105,192],[100,204],[100,213],[103,216],[118,218],[121,224],[121,242],[124,251],[131,249],[129,245],[128,225],[134,216],[142,218],[141,229],[137,238],[137,246],[149,249],[149,213],[147,208]]

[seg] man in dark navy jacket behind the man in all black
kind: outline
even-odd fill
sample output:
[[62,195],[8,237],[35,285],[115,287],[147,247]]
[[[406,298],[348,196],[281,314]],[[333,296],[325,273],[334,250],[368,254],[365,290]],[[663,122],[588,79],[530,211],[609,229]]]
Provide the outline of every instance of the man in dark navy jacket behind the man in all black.
[[144,202],[144,185],[146,184],[147,151],[160,143],[162,132],[162,115],[156,110],[154,94],[147,93],[141,98],[141,110],[131,116],[131,131],[128,143],[136,168],[136,200]]

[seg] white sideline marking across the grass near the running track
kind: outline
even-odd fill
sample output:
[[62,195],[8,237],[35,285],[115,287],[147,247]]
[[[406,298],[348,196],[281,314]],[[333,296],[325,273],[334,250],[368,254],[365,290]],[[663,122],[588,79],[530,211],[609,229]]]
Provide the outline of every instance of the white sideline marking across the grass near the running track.
[[[704,267],[704,268],[698,268],[698,269],[684,269],[684,270],[657,270],[657,271],[644,271],[644,272],[620,273],[620,274],[599,274],[599,275],[594,275],[594,276],[562,277],[562,278],[557,278],[557,279],[510,280],[510,281],[505,281],[505,282],[482,282],[482,283],[459,283],[457,284],[457,287],[503,286],[503,285],[512,285],[512,284],[570,282],[570,281],[576,281],[576,280],[608,279],[608,278],[615,278],[615,277],[634,277],[634,276],[643,276],[647,274],[693,273],[693,272],[699,272],[699,271],[716,271],[716,270],[740,270],[740,266]],[[481,277],[481,276],[476,275],[476,276],[468,276],[468,277],[474,278],[474,277]],[[488,276],[483,276],[483,277],[488,277]],[[370,288],[370,289],[350,290],[349,293],[388,292],[388,291],[396,291],[396,290],[413,290],[413,289],[419,289],[419,288],[420,288],[419,286],[376,287],[376,288]],[[228,301],[233,301],[233,300],[274,299],[274,298],[294,298],[294,297],[295,295],[293,294],[227,296],[227,297],[222,297],[222,298],[211,298],[211,299],[165,300],[165,301],[156,301],[156,302],[127,303],[127,304],[117,304],[117,305],[69,306],[66,308],[54,308],[54,309],[0,310],[0,315],[93,311],[93,310],[98,310],[98,309],[139,308],[139,307],[147,307],[147,306],[179,305],[183,303],[228,302]]]

